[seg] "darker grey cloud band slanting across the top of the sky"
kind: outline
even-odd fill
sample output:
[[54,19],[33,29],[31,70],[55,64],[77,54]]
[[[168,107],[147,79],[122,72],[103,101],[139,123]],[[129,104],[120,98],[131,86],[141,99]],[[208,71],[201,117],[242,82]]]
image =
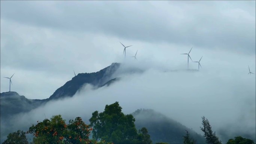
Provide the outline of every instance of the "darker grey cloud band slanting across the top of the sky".
[[1,3],[1,18],[40,27],[255,53],[255,1]]

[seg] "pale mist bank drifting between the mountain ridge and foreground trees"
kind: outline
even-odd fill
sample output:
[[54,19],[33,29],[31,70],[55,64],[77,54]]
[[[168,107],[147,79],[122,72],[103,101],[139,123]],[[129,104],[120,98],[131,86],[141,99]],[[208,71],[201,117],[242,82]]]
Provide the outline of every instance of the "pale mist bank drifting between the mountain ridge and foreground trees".
[[[231,58],[232,56],[236,55],[229,55]],[[223,59],[225,57],[220,57],[220,60]],[[255,75],[247,75],[246,68],[241,70],[240,64],[247,59],[241,57],[240,60],[240,63],[235,60],[238,63],[234,64],[233,61],[219,63],[216,67],[216,64],[206,57],[202,66],[204,67],[207,61],[208,67],[205,66],[206,68],[200,71],[186,71],[176,67],[159,68],[157,63],[143,60],[126,61],[119,71],[137,67],[145,70],[144,73],[116,73],[116,77],[122,77],[121,80],[96,90],[90,85],[85,85],[73,98],[52,101],[29,113],[14,116],[11,122],[15,124],[12,128],[19,128],[22,124],[26,130],[25,126],[30,126],[30,123],[43,120],[44,114],[48,118],[61,114],[66,120],[80,116],[88,123],[93,111],[101,112],[106,104],[119,101],[125,114],[139,108],[150,108],[200,134],[201,116],[205,116],[222,141],[237,136],[235,134],[247,134],[255,139]],[[184,62],[186,63],[186,60]],[[226,65],[232,67],[227,69]],[[197,65],[194,65],[194,68],[197,68]],[[228,131],[223,132],[227,125]],[[4,131],[3,129],[1,127],[1,131]]]

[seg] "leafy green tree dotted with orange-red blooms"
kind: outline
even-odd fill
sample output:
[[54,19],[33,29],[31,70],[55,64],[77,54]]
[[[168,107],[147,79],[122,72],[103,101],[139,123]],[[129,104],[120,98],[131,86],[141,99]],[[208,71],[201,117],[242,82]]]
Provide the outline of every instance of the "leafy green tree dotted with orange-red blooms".
[[[61,115],[58,115],[53,116],[51,120],[37,121],[37,125],[32,125],[27,133],[35,136],[34,144],[96,144],[96,140],[89,139],[91,131],[92,128],[86,125],[81,117],[69,120],[67,125]],[[105,144],[105,141],[100,143]]]

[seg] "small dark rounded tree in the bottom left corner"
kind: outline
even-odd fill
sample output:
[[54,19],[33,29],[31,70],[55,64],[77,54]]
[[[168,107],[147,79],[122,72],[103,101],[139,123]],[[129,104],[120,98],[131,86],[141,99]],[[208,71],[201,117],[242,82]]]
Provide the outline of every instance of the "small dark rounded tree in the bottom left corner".
[[28,144],[25,132],[18,130],[10,133],[2,144]]

